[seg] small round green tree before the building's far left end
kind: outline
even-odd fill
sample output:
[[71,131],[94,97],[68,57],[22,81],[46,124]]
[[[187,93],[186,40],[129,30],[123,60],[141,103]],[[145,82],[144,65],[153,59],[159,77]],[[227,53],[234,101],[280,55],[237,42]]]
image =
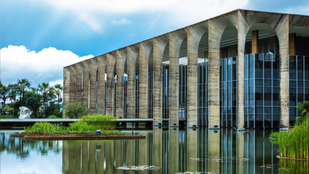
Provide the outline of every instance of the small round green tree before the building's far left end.
[[89,115],[89,109],[82,106],[81,102],[69,103],[66,107],[63,107],[64,113],[67,117],[77,119],[79,116]]

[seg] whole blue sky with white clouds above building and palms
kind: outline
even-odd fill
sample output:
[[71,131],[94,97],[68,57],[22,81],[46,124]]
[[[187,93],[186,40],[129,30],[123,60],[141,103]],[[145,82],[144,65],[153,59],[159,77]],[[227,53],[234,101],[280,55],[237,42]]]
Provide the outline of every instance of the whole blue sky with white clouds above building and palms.
[[[63,67],[237,8],[309,15],[305,0],[2,0],[1,81],[62,83]],[[11,45],[11,46],[10,46]]]

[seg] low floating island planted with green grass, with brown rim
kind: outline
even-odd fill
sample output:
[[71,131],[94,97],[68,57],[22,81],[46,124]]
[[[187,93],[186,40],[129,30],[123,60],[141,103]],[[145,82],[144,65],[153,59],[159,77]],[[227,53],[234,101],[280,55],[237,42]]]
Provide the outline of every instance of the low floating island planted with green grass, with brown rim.
[[[36,122],[24,127],[24,132],[10,134],[10,137],[23,137],[25,140],[116,140],[143,139],[145,135],[122,133],[116,128],[116,119],[109,115],[90,115],[65,127],[61,124]],[[101,134],[96,131],[100,130]]]

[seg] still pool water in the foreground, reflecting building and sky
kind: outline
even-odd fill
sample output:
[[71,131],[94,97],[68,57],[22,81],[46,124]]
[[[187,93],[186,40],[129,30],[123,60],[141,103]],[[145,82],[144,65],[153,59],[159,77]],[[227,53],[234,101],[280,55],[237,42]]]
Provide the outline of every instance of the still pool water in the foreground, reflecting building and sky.
[[[21,131],[0,130],[1,174],[309,173],[308,162],[276,158],[278,145],[268,139],[271,130],[136,129],[134,133],[144,134],[146,139],[106,141],[24,141],[10,137],[10,133]],[[132,170],[139,169],[135,166],[144,170]]]

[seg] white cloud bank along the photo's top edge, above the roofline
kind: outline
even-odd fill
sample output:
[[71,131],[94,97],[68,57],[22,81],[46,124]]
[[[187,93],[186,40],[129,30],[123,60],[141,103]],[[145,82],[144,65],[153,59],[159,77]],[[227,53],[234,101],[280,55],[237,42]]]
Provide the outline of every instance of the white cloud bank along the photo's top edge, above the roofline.
[[[107,19],[110,21],[111,17],[126,18],[128,15],[132,17],[153,16],[154,19],[150,17],[147,21],[150,28],[157,23],[157,20],[161,24],[189,25],[228,11],[244,8],[248,4],[248,0],[46,0],[44,2],[61,11],[73,12],[94,30],[99,30],[104,25],[104,21]],[[163,17],[155,19],[158,15]],[[125,18],[123,22],[129,21]]]

